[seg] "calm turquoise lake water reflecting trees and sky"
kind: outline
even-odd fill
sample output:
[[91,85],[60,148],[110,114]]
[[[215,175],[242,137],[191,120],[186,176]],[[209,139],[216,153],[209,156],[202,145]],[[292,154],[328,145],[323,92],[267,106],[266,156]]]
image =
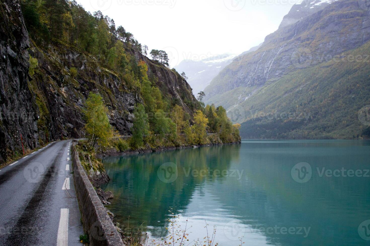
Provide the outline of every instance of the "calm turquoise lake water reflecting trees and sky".
[[189,242],[207,223],[219,245],[370,245],[370,141],[244,140],[103,163],[107,208],[150,240],[174,213]]

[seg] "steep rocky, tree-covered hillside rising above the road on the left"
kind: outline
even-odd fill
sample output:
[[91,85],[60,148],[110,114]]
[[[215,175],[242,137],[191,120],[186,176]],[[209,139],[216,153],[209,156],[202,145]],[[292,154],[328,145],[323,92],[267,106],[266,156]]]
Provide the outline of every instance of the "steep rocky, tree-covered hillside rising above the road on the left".
[[26,0],[0,3],[0,13],[0,162],[23,148],[83,137],[91,92],[104,101],[115,135],[131,135],[144,119],[148,127],[140,130],[148,131],[132,147],[210,143],[212,129],[234,141],[225,110],[216,115],[219,128],[209,127],[189,84],[166,67],[166,54],[147,58],[147,47],[100,11],[88,13],[76,1]]

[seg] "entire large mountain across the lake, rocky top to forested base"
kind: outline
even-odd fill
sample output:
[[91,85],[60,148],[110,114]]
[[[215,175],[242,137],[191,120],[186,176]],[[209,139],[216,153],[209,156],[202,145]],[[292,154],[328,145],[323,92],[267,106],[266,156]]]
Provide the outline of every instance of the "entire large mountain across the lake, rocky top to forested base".
[[357,113],[370,100],[369,13],[357,0],[295,4],[257,51],[213,79],[206,103],[228,108],[243,138],[360,138],[367,126]]

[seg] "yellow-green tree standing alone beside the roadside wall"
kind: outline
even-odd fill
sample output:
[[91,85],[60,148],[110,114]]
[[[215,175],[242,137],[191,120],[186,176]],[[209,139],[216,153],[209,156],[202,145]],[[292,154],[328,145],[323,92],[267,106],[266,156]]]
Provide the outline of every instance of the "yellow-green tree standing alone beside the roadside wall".
[[96,144],[106,147],[109,139],[113,136],[112,127],[107,116],[108,109],[105,107],[99,94],[90,93],[85,102],[85,130],[89,147],[93,149]]

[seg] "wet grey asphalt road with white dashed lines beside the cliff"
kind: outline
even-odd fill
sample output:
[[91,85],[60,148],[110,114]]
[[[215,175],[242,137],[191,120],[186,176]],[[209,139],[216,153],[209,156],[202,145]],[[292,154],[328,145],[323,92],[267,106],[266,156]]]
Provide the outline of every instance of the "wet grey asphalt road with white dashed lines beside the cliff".
[[0,245],[82,245],[70,149],[50,143],[0,169]]

